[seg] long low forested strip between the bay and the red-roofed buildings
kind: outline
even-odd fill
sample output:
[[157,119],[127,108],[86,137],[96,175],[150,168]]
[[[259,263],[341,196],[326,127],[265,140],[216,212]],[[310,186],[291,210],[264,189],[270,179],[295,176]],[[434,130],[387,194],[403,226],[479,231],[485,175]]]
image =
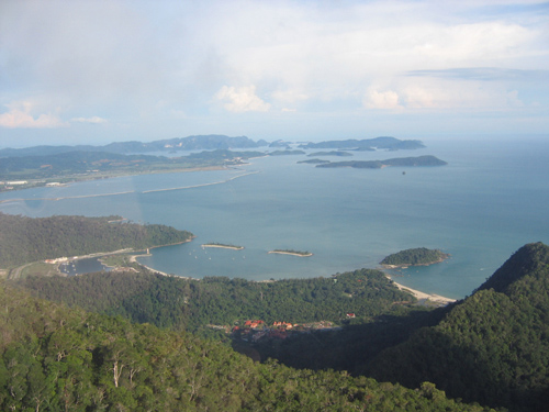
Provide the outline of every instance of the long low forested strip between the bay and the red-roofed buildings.
[[381,271],[360,269],[335,278],[257,282],[226,277],[201,280],[147,272],[103,272],[77,277],[29,277],[18,282],[41,298],[134,322],[204,334],[210,324],[231,329],[245,320],[340,324],[406,312],[415,299]]

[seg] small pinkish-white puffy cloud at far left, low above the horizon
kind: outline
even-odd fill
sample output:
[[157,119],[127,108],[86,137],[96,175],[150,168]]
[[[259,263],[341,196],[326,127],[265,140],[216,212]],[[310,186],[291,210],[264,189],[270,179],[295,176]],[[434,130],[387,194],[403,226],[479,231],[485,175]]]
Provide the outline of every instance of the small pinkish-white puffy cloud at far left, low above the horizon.
[[63,122],[55,114],[38,114],[34,116],[32,111],[35,103],[31,101],[18,101],[5,104],[8,112],[0,114],[0,126],[8,129],[51,129],[65,127]]

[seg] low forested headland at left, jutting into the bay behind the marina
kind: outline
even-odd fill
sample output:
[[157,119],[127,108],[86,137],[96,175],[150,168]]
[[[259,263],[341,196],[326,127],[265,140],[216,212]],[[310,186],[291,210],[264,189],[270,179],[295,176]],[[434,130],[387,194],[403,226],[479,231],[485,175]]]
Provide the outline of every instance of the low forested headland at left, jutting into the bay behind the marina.
[[143,249],[192,238],[192,233],[187,231],[121,220],[121,216],[33,219],[0,212],[0,268],[61,256]]

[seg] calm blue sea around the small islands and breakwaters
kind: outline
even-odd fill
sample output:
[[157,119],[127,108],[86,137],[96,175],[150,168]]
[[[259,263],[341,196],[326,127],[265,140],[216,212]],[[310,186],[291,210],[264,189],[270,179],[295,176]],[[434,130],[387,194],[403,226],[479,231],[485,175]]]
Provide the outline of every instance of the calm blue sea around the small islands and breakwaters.
[[[450,258],[390,275],[406,287],[452,299],[471,294],[523,245],[549,243],[548,138],[423,143],[425,148],[414,151],[315,157],[341,162],[434,155],[448,165],[316,168],[298,163],[312,158],[306,155],[268,156],[223,170],[3,192],[0,211],[27,216],[117,214],[190,231],[192,242],[150,249],[138,261],[198,279],[329,277],[378,268],[386,255],[402,249],[437,248]],[[212,242],[244,249],[202,246]],[[269,254],[273,249],[313,255]]]

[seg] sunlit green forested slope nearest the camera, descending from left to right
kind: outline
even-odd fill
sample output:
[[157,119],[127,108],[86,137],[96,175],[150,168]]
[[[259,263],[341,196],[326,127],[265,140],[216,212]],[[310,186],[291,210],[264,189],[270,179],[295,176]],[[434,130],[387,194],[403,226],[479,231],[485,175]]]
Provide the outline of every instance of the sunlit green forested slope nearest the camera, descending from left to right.
[[488,411],[40,301],[0,282],[2,411]]

